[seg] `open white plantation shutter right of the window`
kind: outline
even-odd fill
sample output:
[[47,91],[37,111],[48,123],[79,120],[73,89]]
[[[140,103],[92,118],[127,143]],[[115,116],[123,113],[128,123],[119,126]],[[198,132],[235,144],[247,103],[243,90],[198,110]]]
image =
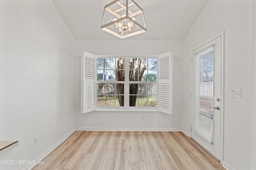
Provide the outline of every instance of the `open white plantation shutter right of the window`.
[[172,113],[172,52],[158,55],[158,111]]

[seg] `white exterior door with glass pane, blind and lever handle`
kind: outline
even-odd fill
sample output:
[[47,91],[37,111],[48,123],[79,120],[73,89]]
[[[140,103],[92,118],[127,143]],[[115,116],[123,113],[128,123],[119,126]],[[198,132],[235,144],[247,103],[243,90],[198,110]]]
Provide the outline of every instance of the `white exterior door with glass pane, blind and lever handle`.
[[193,51],[192,138],[220,160],[222,36]]

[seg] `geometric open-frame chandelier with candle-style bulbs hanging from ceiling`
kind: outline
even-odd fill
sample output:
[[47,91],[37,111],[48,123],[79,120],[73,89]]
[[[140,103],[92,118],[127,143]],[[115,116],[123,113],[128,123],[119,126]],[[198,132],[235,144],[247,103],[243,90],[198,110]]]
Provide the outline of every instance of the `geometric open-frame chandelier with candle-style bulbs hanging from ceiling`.
[[122,39],[144,33],[143,9],[134,0],[114,0],[104,8],[101,29]]

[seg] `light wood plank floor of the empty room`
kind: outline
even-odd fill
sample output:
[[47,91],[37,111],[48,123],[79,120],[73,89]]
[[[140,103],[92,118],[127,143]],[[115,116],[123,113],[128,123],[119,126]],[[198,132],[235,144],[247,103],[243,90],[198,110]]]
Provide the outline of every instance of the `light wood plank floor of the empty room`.
[[75,131],[33,170],[225,170],[182,132]]

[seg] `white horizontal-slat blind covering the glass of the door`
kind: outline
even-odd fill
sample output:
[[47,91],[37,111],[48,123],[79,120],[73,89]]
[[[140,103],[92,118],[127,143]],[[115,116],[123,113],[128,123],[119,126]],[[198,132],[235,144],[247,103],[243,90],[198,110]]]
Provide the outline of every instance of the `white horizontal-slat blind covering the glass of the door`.
[[213,143],[214,46],[194,54],[193,66],[192,129],[204,140]]

